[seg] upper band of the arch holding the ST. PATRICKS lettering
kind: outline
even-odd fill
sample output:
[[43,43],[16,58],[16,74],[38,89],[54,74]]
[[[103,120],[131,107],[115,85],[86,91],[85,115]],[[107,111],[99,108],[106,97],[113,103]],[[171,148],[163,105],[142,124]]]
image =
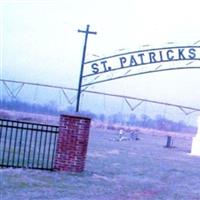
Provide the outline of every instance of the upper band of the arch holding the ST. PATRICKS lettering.
[[200,46],[145,49],[91,60],[84,63],[82,77],[87,78],[126,68],[177,61],[200,61]]

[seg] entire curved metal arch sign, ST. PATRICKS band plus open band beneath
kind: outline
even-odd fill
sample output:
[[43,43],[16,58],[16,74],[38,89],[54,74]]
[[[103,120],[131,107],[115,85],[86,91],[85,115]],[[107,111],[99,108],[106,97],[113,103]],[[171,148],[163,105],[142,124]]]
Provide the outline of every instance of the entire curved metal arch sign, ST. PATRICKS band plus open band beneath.
[[116,54],[85,62],[82,86],[146,73],[199,69],[199,61],[200,46],[163,47]]

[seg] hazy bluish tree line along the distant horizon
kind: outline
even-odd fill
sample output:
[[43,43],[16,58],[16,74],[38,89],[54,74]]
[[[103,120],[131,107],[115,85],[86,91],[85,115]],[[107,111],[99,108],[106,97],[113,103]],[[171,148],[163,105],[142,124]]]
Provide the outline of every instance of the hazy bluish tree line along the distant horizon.
[[[23,102],[20,100],[9,101],[7,99],[1,100],[1,108],[15,111],[23,111],[30,113],[39,113],[39,114],[50,114],[50,115],[59,115],[61,113],[70,113],[73,114],[75,108],[70,106],[66,107],[64,110],[59,110],[55,102],[48,102],[47,104],[33,104],[28,102]],[[92,118],[93,120],[100,121],[102,123],[112,123],[112,124],[121,124],[127,126],[138,126],[143,128],[152,128],[164,131],[174,131],[174,132],[190,132],[195,133],[196,127],[186,124],[184,121],[173,121],[167,119],[165,116],[157,115],[152,118],[146,114],[137,116],[134,113],[123,114],[123,113],[114,113],[114,114],[97,114],[91,111],[85,110],[80,111],[80,113]]]

